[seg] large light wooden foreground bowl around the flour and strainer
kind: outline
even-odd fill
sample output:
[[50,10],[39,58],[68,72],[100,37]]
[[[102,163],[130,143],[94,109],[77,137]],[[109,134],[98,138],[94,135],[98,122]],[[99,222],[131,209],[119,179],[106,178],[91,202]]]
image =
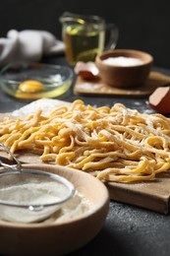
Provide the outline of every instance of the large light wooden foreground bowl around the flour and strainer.
[[107,216],[109,195],[105,185],[92,175],[76,169],[50,164],[23,166],[40,168],[66,177],[91,205],[81,216],[60,224],[15,224],[0,221],[0,254],[63,255],[89,242],[98,233]]

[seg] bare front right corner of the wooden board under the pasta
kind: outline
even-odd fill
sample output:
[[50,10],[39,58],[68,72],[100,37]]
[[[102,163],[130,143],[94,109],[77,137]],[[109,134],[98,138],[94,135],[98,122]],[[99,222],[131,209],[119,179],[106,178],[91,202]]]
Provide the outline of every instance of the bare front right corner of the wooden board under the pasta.
[[112,200],[169,214],[170,171],[157,175],[153,181],[106,184]]

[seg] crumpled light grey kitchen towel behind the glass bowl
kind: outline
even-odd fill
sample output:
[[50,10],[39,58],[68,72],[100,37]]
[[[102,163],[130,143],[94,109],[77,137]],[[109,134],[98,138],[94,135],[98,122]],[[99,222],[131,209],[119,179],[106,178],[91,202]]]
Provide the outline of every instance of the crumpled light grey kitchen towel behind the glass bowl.
[[16,61],[36,62],[45,55],[64,52],[64,43],[51,32],[11,30],[0,38],[0,66]]

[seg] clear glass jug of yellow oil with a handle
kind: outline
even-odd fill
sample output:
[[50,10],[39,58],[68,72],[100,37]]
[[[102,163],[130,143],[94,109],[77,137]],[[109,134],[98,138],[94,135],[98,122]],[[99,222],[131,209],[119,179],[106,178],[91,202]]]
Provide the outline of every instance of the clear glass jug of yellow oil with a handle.
[[75,66],[78,61],[94,61],[95,56],[105,48],[106,32],[109,42],[106,48],[114,49],[118,40],[118,28],[106,24],[98,16],[85,16],[64,13],[59,21],[62,24],[62,38],[68,62]]

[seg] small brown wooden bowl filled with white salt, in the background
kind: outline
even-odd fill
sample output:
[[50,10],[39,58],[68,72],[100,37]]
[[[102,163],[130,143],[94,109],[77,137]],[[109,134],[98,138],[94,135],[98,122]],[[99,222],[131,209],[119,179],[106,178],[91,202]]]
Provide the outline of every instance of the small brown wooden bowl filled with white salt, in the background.
[[[103,60],[109,57],[136,58],[142,60],[142,64],[134,66],[118,66],[105,63]],[[96,56],[96,65],[102,81],[112,87],[135,88],[142,86],[151,70],[153,57],[143,51],[130,49],[116,49],[104,51]]]

